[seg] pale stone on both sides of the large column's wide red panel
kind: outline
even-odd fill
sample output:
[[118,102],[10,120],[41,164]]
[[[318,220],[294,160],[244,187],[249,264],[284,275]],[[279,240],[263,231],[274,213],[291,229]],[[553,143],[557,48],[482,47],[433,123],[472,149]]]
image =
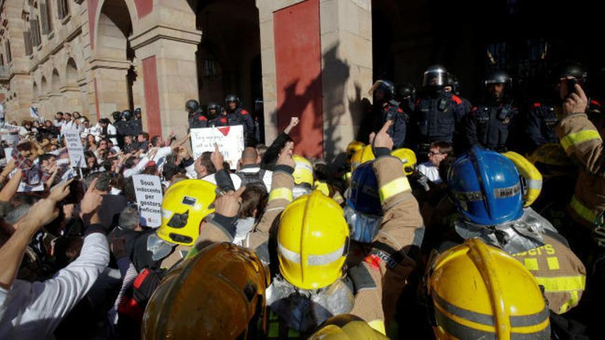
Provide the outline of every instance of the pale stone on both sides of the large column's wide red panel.
[[[274,13],[300,0],[257,0],[261,25],[261,58],[265,136],[278,134]],[[320,0],[323,150],[333,160],[355,138],[362,120],[361,100],[372,86],[371,0]],[[303,74],[304,69],[295,70]],[[290,78],[297,78],[293,75]],[[314,100],[314,98],[309,98]],[[303,125],[303,123],[301,123]]]

